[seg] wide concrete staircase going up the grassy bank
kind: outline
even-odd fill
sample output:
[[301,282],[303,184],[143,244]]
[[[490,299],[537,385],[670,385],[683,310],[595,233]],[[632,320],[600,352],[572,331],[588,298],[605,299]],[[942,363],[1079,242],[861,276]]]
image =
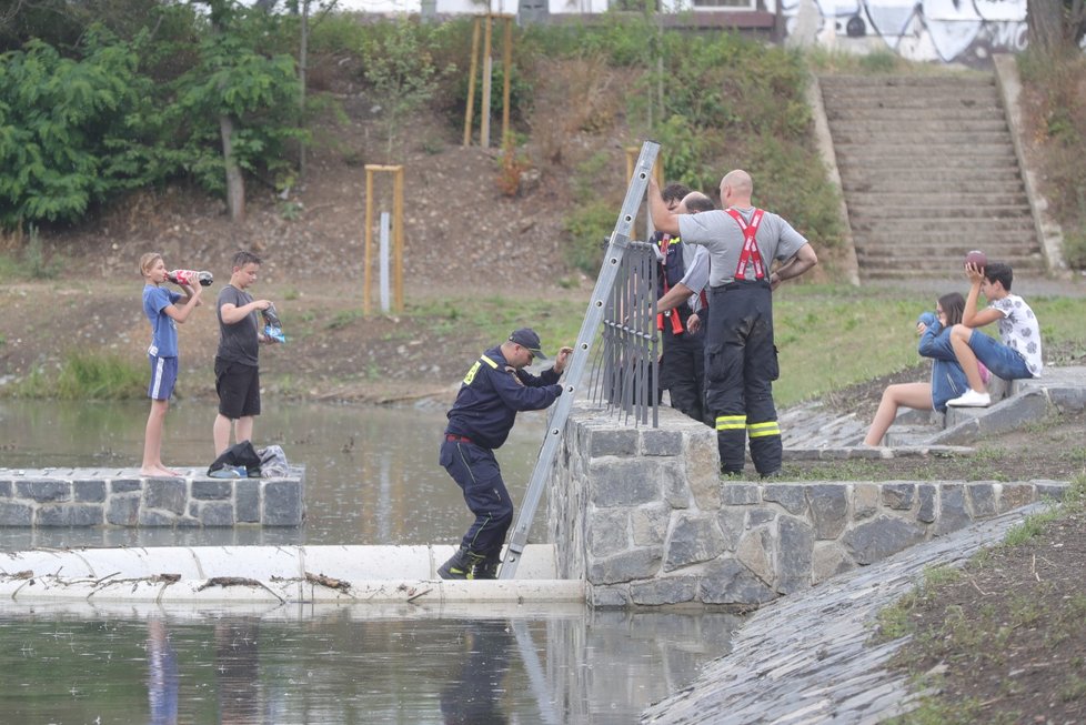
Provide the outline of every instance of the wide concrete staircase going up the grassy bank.
[[974,249],[1044,272],[993,74],[818,82],[862,280],[957,278]]

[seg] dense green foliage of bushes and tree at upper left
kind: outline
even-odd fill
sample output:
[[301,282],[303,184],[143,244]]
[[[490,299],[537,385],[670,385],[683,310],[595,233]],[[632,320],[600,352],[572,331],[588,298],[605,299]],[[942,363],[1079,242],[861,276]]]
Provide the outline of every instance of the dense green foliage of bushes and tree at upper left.
[[223,115],[243,170],[272,185],[292,175],[288,143],[306,134],[294,61],[274,52],[282,23],[219,2],[214,28],[187,7],[152,16],[157,34],[94,26],[71,58],[41,40],[0,57],[0,226],[76,222],[183,175],[221,192]]

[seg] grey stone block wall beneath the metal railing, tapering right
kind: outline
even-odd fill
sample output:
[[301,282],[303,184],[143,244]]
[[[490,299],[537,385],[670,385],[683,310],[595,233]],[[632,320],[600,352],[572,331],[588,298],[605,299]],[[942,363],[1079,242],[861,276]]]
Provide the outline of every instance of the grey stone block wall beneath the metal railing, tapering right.
[[549,533],[593,606],[758,605],[1066,487],[722,481],[715,432],[671,410],[658,429],[575,410],[564,446]]

